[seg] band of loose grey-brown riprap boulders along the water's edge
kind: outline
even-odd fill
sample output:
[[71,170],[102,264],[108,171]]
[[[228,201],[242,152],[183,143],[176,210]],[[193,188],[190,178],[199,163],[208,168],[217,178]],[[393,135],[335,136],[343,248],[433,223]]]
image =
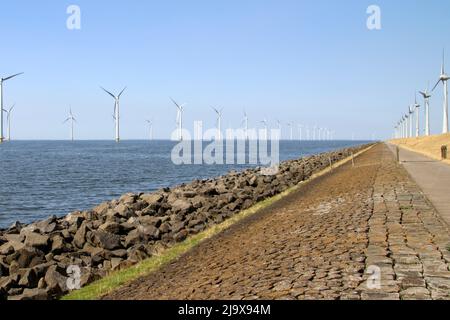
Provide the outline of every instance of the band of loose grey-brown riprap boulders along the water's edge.
[[0,231],[0,300],[61,297],[69,291],[71,266],[81,272],[75,285],[85,286],[307,180],[330,159],[337,162],[367,147],[286,161],[276,175],[261,175],[259,168],[231,172],[150,194],[126,194],[62,218],[17,222]]

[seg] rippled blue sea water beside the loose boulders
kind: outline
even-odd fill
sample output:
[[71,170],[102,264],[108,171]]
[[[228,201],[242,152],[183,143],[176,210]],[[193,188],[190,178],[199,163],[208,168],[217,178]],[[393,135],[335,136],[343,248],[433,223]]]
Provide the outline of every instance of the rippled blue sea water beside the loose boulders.
[[[282,141],[280,160],[365,142]],[[174,165],[171,141],[13,141],[0,146],[0,228],[89,209],[127,192],[220,176],[242,165]]]

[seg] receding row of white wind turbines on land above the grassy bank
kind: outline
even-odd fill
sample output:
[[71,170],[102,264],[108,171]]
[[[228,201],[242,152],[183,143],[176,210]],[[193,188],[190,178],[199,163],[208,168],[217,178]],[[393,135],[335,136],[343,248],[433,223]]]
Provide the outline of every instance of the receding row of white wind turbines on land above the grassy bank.
[[[419,91],[424,99],[425,106],[425,136],[429,136],[430,133],[430,98],[431,93],[437,88],[437,86],[442,82],[444,89],[444,103],[443,103],[443,113],[442,113],[442,133],[448,133],[448,80],[450,77],[445,73],[445,50],[442,52],[442,65],[441,74],[436,85],[433,87],[431,92],[429,92],[429,86],[424,91]],[[402,115],[400,120],[395,125],[394,137],[396,139],[405,139],[420,137],[420,104],[417,103],[417,94],[414,99],[414,104],[408,106],[408,111],[406,114]],[[415,120],[415,124],[414,124]],[[414,128],[415,127],[415,128]]]

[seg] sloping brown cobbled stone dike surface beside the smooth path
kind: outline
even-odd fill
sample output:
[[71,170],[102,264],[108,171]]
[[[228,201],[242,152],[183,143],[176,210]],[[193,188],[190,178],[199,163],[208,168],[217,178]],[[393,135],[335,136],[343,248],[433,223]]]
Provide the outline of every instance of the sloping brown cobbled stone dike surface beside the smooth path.
[[450,299],[449,245],[380,144],[105,299]]

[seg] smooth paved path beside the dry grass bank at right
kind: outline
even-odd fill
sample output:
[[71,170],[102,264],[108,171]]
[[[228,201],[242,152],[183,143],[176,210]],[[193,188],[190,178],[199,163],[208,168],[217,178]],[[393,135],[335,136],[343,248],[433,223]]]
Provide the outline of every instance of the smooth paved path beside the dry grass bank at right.
[[450,226],[450,165],[402,148],[400,161]]

